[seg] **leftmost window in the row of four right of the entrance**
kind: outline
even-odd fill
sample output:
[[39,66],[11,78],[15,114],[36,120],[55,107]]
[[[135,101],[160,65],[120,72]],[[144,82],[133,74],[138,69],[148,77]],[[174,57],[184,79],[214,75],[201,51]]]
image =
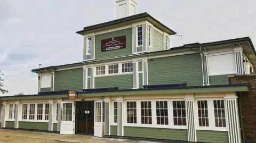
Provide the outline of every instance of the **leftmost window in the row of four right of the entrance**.
[[127,110],[127,123],[136,124],[137,123],[137,103],[136,102],[126,102]]

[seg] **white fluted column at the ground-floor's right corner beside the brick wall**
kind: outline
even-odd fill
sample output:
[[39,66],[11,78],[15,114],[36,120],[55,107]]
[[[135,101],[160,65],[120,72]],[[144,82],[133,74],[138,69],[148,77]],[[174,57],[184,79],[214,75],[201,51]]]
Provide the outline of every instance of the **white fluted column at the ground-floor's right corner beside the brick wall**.
[[227,106],[227,127],[228,137],[231,143],[241,143],[241,133],[239,125],[238,105],[237,97],[235,93],[226,94],[226,106]]

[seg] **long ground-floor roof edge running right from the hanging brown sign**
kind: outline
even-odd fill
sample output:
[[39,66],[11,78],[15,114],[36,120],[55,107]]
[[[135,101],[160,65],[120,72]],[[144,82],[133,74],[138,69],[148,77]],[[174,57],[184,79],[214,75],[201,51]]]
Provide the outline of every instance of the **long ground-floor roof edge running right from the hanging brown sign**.
[[213,86],[180,86],[180,87],[161,87],[161,88],[139,88],[139,89],[120,89],[120,90],[108,90],[108,91],[90,91],[90,92],[77,92],[79,94],[91,94],[99,92],[118,92],[118,91],[141,91],[141,90],[163,90],[163,89],[189,89],[189,88],[216,88],[216,87],[239,87],[247,86],[251,87],[250,83],[234,83],[230,85],[213,85]]

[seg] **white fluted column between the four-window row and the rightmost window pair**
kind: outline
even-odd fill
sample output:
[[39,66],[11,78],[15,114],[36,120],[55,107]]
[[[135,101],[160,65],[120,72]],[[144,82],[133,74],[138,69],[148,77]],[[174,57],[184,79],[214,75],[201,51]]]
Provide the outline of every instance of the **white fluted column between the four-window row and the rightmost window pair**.
[[195,116],[194,116],[194,95],[188,94],[185,98],[187,126],[188,126],[188,141],[196,142]]

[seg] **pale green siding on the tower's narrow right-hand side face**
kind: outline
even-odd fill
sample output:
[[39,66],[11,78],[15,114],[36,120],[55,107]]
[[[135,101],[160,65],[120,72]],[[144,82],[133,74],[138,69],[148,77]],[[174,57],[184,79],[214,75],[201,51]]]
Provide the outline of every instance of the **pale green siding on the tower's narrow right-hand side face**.
[[164,35],[157,30],[154,30],[154,49],[155,51],[162,51],[164,49]]

